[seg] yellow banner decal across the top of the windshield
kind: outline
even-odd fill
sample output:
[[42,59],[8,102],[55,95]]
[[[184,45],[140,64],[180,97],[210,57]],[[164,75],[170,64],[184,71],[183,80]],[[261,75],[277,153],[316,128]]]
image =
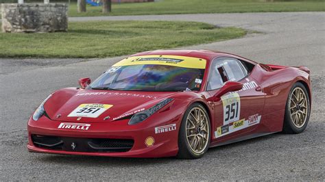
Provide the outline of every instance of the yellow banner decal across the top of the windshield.
[[156,64],[167,66],[178,66],[182,68],[206,68],[206,60],[197,57],[187,57],[180,55],[141,55],[132,56],[121,60],[113,65],[115,66],[130,66],[141,64]]

